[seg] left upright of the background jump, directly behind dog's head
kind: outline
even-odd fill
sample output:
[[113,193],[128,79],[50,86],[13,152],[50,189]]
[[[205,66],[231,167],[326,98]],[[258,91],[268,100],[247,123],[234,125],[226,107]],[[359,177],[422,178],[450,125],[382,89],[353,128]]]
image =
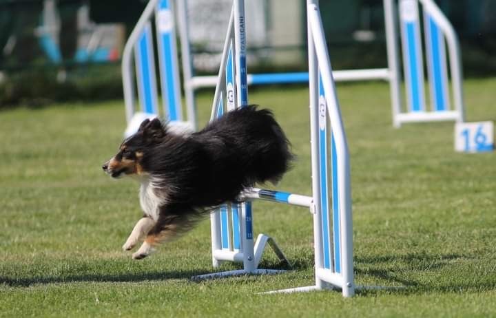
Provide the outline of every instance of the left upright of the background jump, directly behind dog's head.
[[[141,120],[147,117],[163,116],[171,123],[183,123],[174,16],[171,0],[149,0],[125,44],[122,74],[126,120],[130,125],[126,134],[136,131]],[[154,47],[152,18],[157,47]],[[133,51],[136,78],[132,67]],[[156,74],[155,59],[159,63],[159,76]],[[158,107],[158,77],[162,112]],[[140,107],[136,107],[136,85]],[[135,116],[136,120],[133,120]],[[188,100],[187,118],[189,127],[195,127],[194,99]]]

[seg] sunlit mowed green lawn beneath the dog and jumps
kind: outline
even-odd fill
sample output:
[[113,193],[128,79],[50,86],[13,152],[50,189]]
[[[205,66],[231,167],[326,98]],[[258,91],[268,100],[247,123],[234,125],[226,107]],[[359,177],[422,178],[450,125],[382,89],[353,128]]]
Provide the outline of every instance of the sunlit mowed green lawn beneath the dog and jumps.
[[[465,84],[469,121],[496,120],[496,79]],[[351,151],[355,279],[400,289],[257,295],[313,284],[306,209],[254,204],[293,271],[192,282],[211,268],[209,221],[135,261],[138,184],[101,164],[125,128],[121,100],[0,112],[1,317],[488,317],[496,315],[496,154],[453,151],[453,123],[391,125],[383,83],[338,85]],[[304,87],[252,89],[298,160],[279,189],[310,194]],[[198,98],[205,123],[211,94]],[[284,267],[267,250],[262,266]],[[240,268],[225,264],[221,269]]]

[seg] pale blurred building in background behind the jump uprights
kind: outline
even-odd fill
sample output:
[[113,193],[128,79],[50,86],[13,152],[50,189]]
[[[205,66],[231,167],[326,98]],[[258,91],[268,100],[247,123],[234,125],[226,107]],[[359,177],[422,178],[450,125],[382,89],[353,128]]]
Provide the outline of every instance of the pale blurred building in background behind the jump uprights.
[[[193,51],[198,52],[194,54],[194,66],[199,70],[218,69],[231,4],[231,0],[188,0],[189,38]],[[305,52],[298,49],[305,41],[302,1],[249,0],[245,6],[251,65],[304,61]]]

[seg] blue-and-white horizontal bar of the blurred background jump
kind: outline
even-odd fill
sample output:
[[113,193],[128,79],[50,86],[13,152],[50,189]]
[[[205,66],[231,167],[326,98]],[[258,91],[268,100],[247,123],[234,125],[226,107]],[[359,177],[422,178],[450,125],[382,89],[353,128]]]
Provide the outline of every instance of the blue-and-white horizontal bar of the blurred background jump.
[[[365,69],[365,70],[342,70],[333,72],[334,81],[389,81],[390,74],[386,68]],[[248,74],[248,85],[267,85],[267,84],[289,84],[289,83],[308,83],[309,74],[307,72],[291,73],[269,73],[269,74]],[[194,76],[189,85],[194,88],[215,87],[217,85],[217,76]]]

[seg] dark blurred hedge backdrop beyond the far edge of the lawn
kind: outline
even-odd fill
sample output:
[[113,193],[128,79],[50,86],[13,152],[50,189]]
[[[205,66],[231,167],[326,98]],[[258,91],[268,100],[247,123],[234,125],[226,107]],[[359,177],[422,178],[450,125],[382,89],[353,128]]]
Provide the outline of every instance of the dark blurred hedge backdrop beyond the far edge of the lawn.
[[[201,8],[209,4],[217,10],[216,1],[230,2],[205,1],[189,0],[189,3],[196,3]],[[255,63],[249,65],[250,72],[305,70],[305,1],[253,1],[261,1],[265,27],[271,28],[269,31],[274,39],[266,36],[264,45],[249,47],[250,54],[256,57]],[[289,28],[296,30],[288,31],[293,36],[288,43],[282,44],[276,29],[276,24],[281,21],[277,20],[281,15],[276,10],[278,1],[285,1],[288,14],[292,10],[291,16],[296,12],[296,17],[291,19],[282,12],[282,21],[287,24],[282,25],[279,32]],[[120,58],[123,44],[146,2],[0,0],[0,109],[21,104],[35,107],[54,100],[121,98]],[[459,34],[464,75],[494,76],[496,1],[436,2]],[[382,0],[320,1],[320,6],[335,70],[386,65]],[[203,10],[194,12],[195,21],[202,19],[198,14],[211,17],[211,12],[200,11]],[[223,25],[219,26],[219,30],[223,30]],[[99,39],[99,46],[91,52],[89,49],[85,51],[85,47],[91,46],[88,43],[92,41],[92,36],[98,32],[105,34]],[[219,33],[218,37],[223,41],[224,35]],[[209,52],[211,47],[205,43],[192,43],[192,49],[197,55],[212,53]],[[284,52],[285,57],[280,57],[279,52]],[[291,52],[294,54],[291,55]],[[211,57],[214,61],[217,59],[215,54]],[[293,57],[287,59],[287,56]],[[211,74],[214,68],[202,68],[200,65],[196,72]]]

